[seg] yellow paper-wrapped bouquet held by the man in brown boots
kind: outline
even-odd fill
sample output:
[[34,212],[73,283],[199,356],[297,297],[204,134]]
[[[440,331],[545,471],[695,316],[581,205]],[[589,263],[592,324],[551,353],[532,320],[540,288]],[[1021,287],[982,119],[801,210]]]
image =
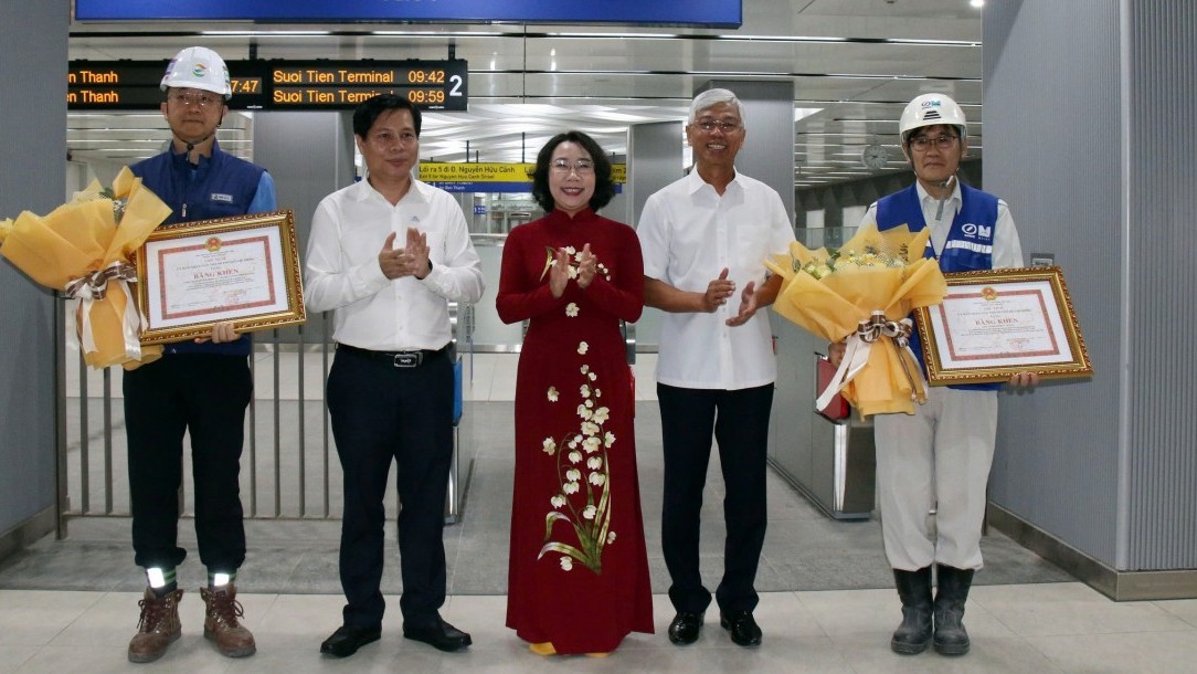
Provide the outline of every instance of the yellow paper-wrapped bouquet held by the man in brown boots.
[[0,255],[75,299],[79,346],[90,366],[133,369],[158,358],[162,347],[141,346],[130,261],[168,215],[170,207],[124,168],[110,195],[92,181],[47,215],[25,211],[0,221]]

